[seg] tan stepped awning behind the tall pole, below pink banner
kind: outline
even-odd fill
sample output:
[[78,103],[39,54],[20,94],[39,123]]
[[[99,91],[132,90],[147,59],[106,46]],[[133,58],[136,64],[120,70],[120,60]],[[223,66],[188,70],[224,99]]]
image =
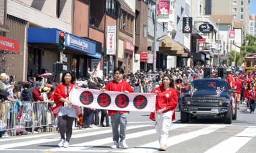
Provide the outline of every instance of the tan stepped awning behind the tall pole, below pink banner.
[[[148,42],[148,46],[151,46],[152,42]],[[187,57],[187,53],[184,52],[184,46],[176,42],[169,36],[162,36],[161,41],[158,42],[160,54],[167,54],[170,56],[183,56]]]

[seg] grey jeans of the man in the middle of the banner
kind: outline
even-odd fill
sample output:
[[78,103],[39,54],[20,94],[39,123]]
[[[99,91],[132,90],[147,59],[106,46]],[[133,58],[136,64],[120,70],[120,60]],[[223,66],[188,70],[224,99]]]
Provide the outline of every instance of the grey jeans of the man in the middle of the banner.
[[[127,125],[127,117],[128,113],[120,113],[117,111],[117,114],[110,115],[112,132],[113,132],[113,141],[119,142],[119,138],[121,142],[125,140],[125,132]],[[120,134],[119,134],[119,125],[120,125]]]

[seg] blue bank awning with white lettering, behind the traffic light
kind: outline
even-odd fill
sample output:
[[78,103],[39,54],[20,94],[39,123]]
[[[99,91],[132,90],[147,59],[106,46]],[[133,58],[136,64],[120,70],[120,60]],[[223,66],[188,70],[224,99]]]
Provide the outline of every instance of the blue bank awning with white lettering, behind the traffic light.
[[[45,50],[59,50],[59,33],[55,28],[28,28],[28,44]],[[74,52],[75,51],[75,52]],[[65,32],[65,54],[80,54],[101,58],[96,54],[96,42]]]

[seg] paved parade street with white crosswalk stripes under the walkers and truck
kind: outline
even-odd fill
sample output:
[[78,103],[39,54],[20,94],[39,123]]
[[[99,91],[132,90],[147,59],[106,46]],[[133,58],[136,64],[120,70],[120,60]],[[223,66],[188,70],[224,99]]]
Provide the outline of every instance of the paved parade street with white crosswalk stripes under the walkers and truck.
[[[231,125],[219,118],[199,118],[187,124],[180,122],[180,113],[169,131],[166,152],[255,152],[256,115],[245,105],[238,110],[238,119]],[[158,152],[154,122],[148,113],[131,112],[127,124],[124,150],[111,149],[111,127],[73,130],[69,148],[59,148],[59,134],[46,132],[0,139],[0,152]]]

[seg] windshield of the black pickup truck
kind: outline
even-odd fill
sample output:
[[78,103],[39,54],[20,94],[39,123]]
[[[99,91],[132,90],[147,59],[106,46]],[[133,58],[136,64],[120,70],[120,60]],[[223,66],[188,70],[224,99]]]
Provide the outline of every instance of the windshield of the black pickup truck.
[[216,91],[218,87],[220,87],[222,91],[228,89],[226,82],[223,80],[195,80],[192,82],[192,86],[198,91]]

